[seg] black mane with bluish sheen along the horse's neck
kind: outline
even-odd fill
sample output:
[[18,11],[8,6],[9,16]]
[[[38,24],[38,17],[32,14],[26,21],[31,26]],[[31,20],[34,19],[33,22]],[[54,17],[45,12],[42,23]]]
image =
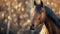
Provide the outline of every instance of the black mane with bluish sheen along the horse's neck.
[[48,6],[45,6],[46,16],[49,17],[54,24],[60,28],[60,19],[55,15],[55,13]]

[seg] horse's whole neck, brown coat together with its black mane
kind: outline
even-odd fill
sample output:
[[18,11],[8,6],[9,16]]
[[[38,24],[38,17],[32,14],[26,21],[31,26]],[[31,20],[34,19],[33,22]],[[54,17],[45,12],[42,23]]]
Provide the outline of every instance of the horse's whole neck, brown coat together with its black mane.
[[52,9],[50,9],[49,7],[45,6],[45,10],[46,10],[46,18],[45,18],[46,20],[44,23],[47,29],[49,30],[49,34],[59,34],[60,19],[53,13]]

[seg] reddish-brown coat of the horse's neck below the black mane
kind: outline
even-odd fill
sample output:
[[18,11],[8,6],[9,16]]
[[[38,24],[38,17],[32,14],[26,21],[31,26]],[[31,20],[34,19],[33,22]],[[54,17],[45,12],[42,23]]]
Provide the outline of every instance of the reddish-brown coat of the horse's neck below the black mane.
[[51,20],[51,18],[46,17],[45,25],[49,31],[49,34],[59,34],[59,30],[57,26],[54,24],[53,20]]

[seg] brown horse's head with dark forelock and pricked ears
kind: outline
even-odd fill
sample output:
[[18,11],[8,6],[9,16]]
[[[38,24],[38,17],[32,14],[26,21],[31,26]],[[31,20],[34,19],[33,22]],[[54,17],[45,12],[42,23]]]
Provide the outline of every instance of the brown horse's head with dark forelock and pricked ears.
[[34,5],[35,5],[35,15],[32,19],[32,26],[34,25],[35,27],[37,27],[38,25],[42,24],[44,22],[45,19],[45,8],[43,6],[43,2],[41,1],[40,4],[37,4],[34,1]]

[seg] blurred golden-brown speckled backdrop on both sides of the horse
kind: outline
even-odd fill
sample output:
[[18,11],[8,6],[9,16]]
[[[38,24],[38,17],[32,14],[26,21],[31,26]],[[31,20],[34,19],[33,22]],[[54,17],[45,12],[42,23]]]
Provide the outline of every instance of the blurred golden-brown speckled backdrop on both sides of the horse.
[[[60,0],[42,1],[60,18]],[[30,10],[30,0],[0,0],[0,32],[8,34],[12,31],[22,34],[23,31],[27,31],[31,21]]]

